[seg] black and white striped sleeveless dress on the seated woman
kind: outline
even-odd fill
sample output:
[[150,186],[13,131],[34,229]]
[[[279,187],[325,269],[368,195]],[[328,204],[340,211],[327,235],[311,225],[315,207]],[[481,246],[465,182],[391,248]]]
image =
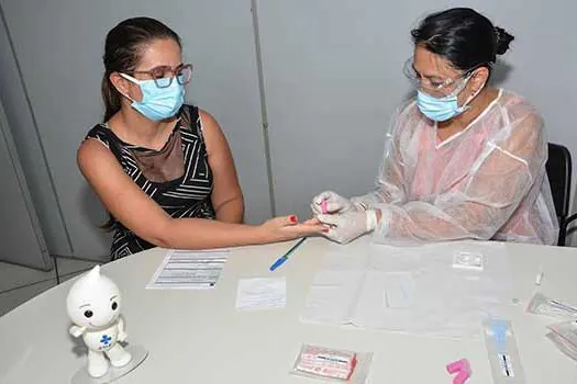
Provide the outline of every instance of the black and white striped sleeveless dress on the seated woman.
[[[179,117],[180,121],[165,147],[170,143],[181,144],[182,154],[178,154],[178,156],[184,158],[184,174],[169,181],[152,181],[143,171],[141,161],[143,157],[162,156],[165,148],[155,151],[124,143],[106,124],[95,126],[86,138],[97,139],[106,145],[114,154],[124,172],[171,217],[212,219],[215,217],[210,200],[212,172],[208,163],[198,109],[184,105],[179,112]],[[129,230],[115,218],[112,217],[112,229],[114,230],[111,247],[112,260],[154,247],[154,245]],[[190,235],[193,236],[193,234]]]

